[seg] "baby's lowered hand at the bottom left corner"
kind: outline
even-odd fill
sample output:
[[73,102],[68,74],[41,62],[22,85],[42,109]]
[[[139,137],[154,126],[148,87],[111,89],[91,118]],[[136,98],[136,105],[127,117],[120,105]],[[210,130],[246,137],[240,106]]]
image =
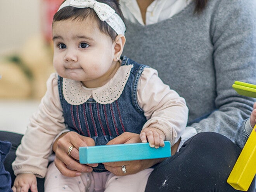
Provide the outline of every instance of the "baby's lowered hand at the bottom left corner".
[[38,192],[36,176],[31,173],[22,173],[16,176],[14,185],[12,187],[13,192]]

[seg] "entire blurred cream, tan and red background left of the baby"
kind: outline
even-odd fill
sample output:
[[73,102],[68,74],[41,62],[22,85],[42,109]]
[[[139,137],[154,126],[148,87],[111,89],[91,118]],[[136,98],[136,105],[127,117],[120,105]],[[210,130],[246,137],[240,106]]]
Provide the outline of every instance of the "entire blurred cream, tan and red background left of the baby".
[[51,21],[61,2],[0,0],[0,130],[25,133],[45,93],[54,72]]

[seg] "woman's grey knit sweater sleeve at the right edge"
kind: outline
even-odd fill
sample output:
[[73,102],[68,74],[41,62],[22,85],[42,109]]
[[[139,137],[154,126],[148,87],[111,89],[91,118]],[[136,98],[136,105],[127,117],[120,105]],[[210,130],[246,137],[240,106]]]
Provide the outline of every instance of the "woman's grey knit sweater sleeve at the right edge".
[[[249,118],[254,98],[232,89],[235,80],[256,84],[256,1],[219,0],[211,19],[211,41],[216,74],[216,109],[209,116],[192,123],[197,132],[214,131],[232,141],[236,130]],[[246,141],[246,132],[238,132]]]

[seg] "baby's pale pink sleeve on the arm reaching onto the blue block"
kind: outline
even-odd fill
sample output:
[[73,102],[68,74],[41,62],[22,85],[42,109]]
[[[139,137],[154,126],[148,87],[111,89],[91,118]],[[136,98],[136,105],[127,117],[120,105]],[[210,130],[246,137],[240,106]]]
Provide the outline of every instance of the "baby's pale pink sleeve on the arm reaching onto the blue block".
[[148,120],[143,129],[158,128],[171,145],[175,144],[187,124],[185,100],[163,83],[155,69],[149,67],[144,69],[138,82],[137,99]]

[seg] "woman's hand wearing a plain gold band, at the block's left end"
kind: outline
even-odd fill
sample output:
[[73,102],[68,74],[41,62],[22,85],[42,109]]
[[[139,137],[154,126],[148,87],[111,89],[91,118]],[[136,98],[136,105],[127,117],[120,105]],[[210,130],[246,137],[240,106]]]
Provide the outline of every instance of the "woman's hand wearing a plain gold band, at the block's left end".
[[[82,172],[92,172],[92,167],[98,164],[80,164],[79,147],[94,146],[95,142],[90,137],[84,137],[74,131],[63,133],[54,142],[52,150],[55,152],[54,163],[62,175],[75,177],[80,176]],[[73,146],[70,156],[67,154],[69,147]],[[72,158],[71,158],[72,157]],[[92,167],[91,167],[92,166]]]

